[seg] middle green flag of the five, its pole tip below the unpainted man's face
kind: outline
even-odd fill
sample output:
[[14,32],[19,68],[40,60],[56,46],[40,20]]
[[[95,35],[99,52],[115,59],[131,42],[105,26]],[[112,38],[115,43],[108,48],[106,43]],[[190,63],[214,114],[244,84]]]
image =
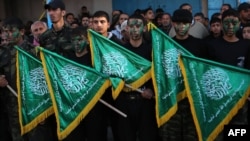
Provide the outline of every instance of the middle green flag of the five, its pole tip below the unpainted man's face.
[[88,34],[94,68],[111,76],[114,99],[117,98],[124,83],[137,89],[151,78],[150,61],[93,30],[88,30]]

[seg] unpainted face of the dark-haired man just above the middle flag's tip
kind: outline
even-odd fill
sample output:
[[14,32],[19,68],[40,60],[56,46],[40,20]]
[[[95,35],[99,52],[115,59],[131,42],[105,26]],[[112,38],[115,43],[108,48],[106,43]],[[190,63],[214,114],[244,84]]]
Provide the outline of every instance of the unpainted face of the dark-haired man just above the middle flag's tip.
[[110,24],[105,17],[93,17],[93,29],[96,32],[106,37],[109,27]]

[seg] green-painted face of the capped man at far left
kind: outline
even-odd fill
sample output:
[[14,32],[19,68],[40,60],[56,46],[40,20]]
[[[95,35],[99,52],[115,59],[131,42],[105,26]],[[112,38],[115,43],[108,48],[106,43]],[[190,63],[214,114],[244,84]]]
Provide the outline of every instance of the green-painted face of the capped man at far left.
[[17,27],[5,26],[3,27],[3,32],[7,35],[8,42],[10,44],[17,45],[19,41],[22,39],[22,35],[24,34],[23,30],[19,30]]

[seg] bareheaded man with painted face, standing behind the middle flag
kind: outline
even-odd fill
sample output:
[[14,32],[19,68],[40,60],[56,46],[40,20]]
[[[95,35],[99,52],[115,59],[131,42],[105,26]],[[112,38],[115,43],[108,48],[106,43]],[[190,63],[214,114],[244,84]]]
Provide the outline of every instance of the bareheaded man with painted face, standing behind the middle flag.
[[[152,46],[143,39],[146,21],[141,15],[132,15],[128,19],[129,42],[125,48],[151,61]],[[158,128],[155,117],[155,100],[152,81],[149,80],[136,91],[121,92],[115,100],[118,109],[127,114],[127,118],[118,117],[118,135],[120,141],[157,141]]]

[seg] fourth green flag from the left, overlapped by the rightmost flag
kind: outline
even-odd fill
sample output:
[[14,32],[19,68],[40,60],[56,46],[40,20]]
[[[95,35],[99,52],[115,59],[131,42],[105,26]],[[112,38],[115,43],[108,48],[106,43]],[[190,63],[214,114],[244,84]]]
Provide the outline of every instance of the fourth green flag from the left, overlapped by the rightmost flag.
[[152,34],[152,80],[156,95],[156,119],[160,127],[176,113],[177,102],[185,97],[178,55],[191,53],[152,23],[148,26]]

